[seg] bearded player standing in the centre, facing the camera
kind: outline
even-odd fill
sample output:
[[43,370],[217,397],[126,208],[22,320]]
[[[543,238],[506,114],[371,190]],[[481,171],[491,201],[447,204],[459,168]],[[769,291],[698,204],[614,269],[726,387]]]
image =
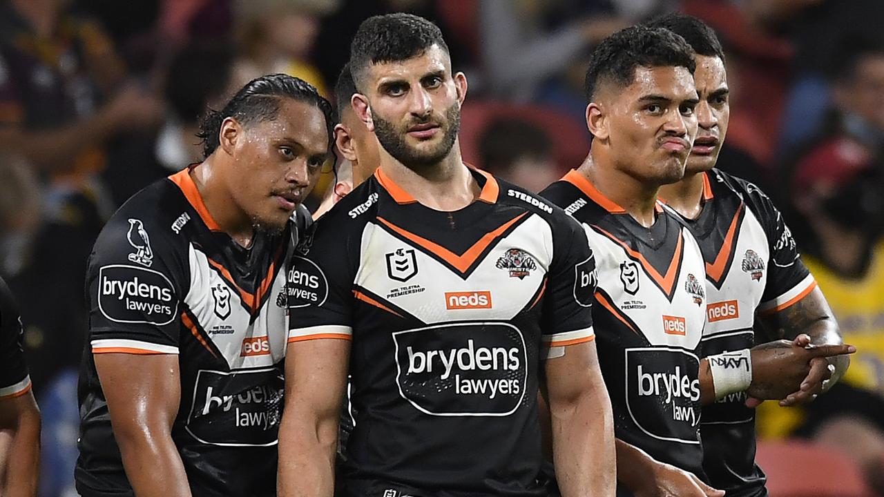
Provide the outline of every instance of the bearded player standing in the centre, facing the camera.
[[467,81],[431,22],[366,20],[351,69],[380,167],[296,248],[280,495],[331,495],[348,370],[340,493],[545,495],[543,389],[563,494],[612,495],[583,230],[462,163]]

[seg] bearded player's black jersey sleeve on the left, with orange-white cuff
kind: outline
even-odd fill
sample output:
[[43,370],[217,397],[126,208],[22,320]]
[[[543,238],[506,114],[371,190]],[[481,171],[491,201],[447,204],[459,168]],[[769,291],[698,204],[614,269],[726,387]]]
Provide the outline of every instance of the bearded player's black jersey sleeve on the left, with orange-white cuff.
[[352,338],[354,256],[359,245],[333,225],[339,226],[339,219],[316,221],[289,261],[289,343]]

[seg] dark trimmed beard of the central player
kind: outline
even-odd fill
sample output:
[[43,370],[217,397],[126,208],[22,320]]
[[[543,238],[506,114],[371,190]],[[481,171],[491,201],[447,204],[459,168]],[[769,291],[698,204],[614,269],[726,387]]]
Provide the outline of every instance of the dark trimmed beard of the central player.
[[392,121],[388,121],[379,116],[374,116],[375,135],[377,141],[393,158],[410,169],[422,168],[433,164],[448,156],[457,140],[457,134],[461,131],[461,106],[453,103],[445,111],[445,122],[438,123],[442,133],[442,141],[430,150],[422,151],[408,146],[406,136],[408,128],[417,124],[428,122],[430,118],[423,121],[410,121],[406,126],[397,127]]

